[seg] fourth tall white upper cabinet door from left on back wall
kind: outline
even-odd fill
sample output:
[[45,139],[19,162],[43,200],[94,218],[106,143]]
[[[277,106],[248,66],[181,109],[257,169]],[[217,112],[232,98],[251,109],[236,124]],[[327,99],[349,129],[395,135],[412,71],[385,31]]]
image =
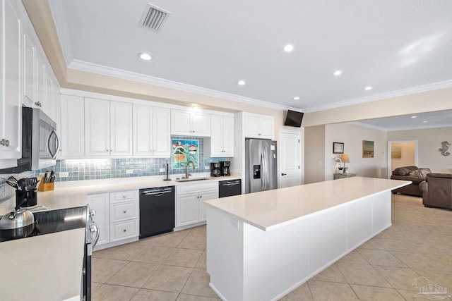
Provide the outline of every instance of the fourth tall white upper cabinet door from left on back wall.
[[153,107],[133,104],[133,155],[151,156],[152,154]]

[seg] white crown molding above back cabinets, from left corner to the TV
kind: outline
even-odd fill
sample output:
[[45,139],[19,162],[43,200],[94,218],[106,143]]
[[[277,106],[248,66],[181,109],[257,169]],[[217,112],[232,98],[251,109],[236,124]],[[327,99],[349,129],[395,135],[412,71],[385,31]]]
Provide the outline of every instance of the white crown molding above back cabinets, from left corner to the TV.
[[194,85],[183,84],[182,82],[174,82],[172,80],[165,80],[162,78],[155,78],[149,75],[143,75],[139,73],[133,73],[126,70],[121,70],[117,68],[106,67],[102,65],[98,65],[95,63],[88,63],[85,61],[79,61],[74,59],[68,66],[68,68],[74,70],[81,70],[90,73],[96,73],[100,75],[107,75],[114,78],[121,78],[123,80],[131,80],[133,82],[142,82],[148,85],[155,85],[158,87],[165,87],[172,90],[190,92],[205,95],[208,97],[216,97],[220,99],[232,100],[235,102],[242,102],[244,104],[252,104],[254,106],[264,106],[270,109],[277,110],[294,110],[294,111],[302,111],[299,108],[294,108],[291,106],[283,106],[281,104],[273,104],[272,102],[264,102],[262,100],[253,99],[250,97],[242,97],[236,94],[230,94],[226,92],[220,92],[215,90],[206,89],[203,87],[197,87]]

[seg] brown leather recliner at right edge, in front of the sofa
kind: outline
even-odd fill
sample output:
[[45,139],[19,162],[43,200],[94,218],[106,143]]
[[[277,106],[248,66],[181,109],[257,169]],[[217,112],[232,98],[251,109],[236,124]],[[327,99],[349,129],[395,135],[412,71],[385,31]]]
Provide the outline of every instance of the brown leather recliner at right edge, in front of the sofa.
[[419,188],[425,207],[452,209],[452,173],[427,173]]

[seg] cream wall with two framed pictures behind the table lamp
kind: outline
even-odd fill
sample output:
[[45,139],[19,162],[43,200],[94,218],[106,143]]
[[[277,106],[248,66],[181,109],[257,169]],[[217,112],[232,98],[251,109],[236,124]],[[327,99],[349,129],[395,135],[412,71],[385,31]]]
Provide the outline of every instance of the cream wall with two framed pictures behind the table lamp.
[[[362,157],[362,140],[374,141],[374,158]],[[350,163],[345,166],[349,173],[370,178],[386,178],[386,131],[366,128],[348,123],[325,125],[325,180],[333,180],[335,157],[333,142],[344,143],[344,154],[348,154]]]

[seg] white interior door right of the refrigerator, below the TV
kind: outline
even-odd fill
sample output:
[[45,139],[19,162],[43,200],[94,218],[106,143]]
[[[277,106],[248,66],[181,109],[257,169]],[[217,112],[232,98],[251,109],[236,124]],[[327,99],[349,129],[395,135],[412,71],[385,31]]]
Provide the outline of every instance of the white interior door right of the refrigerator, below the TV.
[[280,188],[302,185],[300,133],[281,132],[279,145]]

